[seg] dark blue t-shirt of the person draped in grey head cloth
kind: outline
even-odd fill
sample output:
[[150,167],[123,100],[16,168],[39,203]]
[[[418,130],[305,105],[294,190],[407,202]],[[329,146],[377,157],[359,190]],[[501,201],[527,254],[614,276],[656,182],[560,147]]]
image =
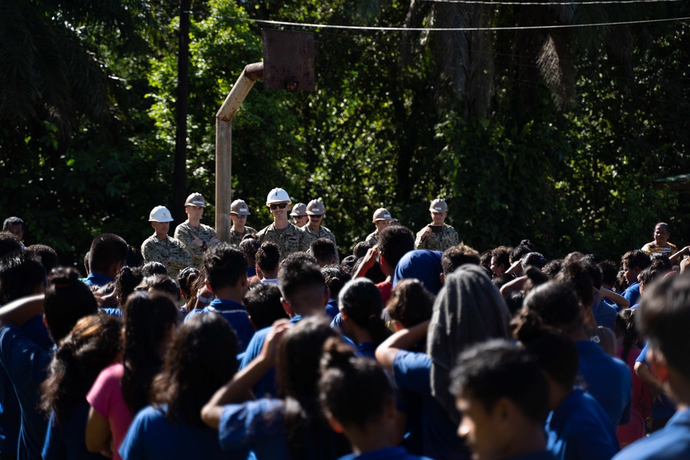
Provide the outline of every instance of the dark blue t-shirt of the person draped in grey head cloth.
[[472,455],[460,437],[457,426],[441,404],[431,395],[431,359],[426,353],[401,350],[393,359],[393,381],[403,391],[422,399],[422,439],[424,455],[436,460],[469,460]]

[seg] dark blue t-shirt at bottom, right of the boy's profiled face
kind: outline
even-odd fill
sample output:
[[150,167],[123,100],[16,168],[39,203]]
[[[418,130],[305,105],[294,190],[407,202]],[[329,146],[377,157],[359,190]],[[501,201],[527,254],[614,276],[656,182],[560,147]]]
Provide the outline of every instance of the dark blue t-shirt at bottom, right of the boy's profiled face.
[[610,460],[618,439],[599,403],[575,388],[546,419],[546,448],[558,460]]

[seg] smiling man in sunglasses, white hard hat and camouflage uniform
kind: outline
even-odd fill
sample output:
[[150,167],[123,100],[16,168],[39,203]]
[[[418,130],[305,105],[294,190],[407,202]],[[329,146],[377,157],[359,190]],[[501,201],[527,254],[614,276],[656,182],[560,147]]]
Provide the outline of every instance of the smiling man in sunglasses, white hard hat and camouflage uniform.
[[280,260],[294,252],[306,251],[308,245],[304,243],[304,233],[288,220],[290,213],[288,192],[282,188],[274,188],[266,197],[266,206],[273,214],[273,223],[257,233],[259,243],[264,243],[264,241],[276,243],[280,251]]

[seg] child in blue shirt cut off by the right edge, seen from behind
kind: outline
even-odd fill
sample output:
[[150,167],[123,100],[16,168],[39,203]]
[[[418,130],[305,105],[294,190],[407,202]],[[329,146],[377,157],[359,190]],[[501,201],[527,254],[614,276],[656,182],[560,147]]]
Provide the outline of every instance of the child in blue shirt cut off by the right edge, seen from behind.
[[666,426],[622,450],[615,460],[690,458],[690,277],[667,277],[645,291],[636,313],[647,337],[647,362],[664,390],[673,394],[678,412]]

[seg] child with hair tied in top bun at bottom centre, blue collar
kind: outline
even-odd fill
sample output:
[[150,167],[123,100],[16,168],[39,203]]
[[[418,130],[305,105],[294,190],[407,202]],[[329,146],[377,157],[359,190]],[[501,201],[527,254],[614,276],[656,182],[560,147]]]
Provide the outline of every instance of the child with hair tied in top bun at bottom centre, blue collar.
[[340,460],[430,460],[391,445],[395,398],[390,380],[376,361],[355,357],[337,338],[324,344],[319,401],[331,428],[351,443],[354,453]]

